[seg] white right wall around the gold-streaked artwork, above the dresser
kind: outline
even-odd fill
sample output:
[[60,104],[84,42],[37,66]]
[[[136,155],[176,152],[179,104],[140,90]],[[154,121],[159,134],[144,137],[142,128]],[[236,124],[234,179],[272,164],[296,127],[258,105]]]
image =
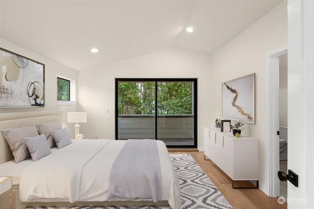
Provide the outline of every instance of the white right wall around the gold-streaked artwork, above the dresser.
[[[287,45],[287,2],[284,1],[211,56],[210,101],[215,101],[210,121],[221,116],[221,83],[251,73],[255,80],[255,124],[244,125],[244,134],[259,138],[260,188],[268,191],[268,163],[265,161],[265,53]],[[216,90],[214,90],[216,89]],[[233,122],[234,123],[234,122]],[[267,169],[266,169],[267,168]]]

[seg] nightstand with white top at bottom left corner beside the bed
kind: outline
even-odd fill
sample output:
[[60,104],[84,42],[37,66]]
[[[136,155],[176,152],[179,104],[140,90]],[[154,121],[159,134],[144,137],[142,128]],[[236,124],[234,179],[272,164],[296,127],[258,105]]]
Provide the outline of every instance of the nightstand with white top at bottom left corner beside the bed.
[[11,209],[12,177],[0,177],[0,208]]

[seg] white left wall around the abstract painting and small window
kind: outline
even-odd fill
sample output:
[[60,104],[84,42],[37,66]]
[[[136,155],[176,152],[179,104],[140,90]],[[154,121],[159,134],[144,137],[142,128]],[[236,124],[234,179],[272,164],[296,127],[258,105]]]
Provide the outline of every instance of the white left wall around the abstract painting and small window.
[[[77,71],[67,68],[46,57],[31,52],[23,47],[13,44],[4,39],[0,39],[0,47],[8,51],[20,54],[27,58],[45,64],[45,107],[29,108],[0,108],[0,113],[4,112],[21,112],[21,111],[42,111],[42,110],[63,110],[62,126],[67,127],[71,137],[74,137],[74,124],[67,124],[67,112],[76,111],[77,105],[57,105],[57,75],[67,78],[77,79]],[[1,115],[0,115],[1,117]],[[73,126],[72,126],[73,125]],[[73,133],[73,134],[72,134]]]

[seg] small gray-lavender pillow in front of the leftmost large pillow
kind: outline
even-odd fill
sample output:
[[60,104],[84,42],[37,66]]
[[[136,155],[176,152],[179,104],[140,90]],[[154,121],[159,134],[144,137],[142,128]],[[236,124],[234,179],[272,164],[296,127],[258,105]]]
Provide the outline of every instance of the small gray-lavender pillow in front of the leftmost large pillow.
[[51,150],[44,133],[34,137],[26,137],[25,143],[33,161],[51,154]]

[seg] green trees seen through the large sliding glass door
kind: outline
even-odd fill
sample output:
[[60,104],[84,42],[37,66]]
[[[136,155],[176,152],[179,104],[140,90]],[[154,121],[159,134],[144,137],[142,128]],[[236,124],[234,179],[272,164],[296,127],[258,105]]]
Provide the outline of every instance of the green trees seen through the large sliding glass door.
[[[192,114],[192,82],[158,82],[157,114]],[[119,82],[119,115],[155,114],[155,82]]]

